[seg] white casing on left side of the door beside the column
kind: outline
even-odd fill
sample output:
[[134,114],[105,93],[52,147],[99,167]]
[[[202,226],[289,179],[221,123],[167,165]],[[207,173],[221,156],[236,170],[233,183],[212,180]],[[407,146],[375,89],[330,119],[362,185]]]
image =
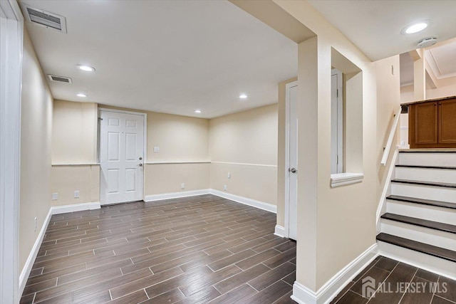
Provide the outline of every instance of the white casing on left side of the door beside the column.
[[285,85],[285,219],[284,237],[289,237],[290,231],[290,89],[298,85],[298,80]]

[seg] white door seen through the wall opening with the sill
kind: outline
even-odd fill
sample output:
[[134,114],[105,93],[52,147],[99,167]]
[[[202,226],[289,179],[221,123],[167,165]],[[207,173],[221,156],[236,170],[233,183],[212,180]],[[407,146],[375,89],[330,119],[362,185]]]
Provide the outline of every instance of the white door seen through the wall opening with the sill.
[[343,172],[342,73],[331,73],[331,174]]

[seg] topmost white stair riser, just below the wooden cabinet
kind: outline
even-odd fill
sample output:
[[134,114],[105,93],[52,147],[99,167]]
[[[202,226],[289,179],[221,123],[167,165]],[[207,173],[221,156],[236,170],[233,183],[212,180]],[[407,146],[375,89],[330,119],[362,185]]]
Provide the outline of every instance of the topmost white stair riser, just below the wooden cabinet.
[[398,164],[456,167],[456,153],[399,153]]

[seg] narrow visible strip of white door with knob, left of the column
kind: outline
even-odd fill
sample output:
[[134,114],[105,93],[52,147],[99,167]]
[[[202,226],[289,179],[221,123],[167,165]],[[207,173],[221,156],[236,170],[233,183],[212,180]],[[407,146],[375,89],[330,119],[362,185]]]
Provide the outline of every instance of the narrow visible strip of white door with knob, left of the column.
[[298,231],[298,116],[296,113],[296,102],[298,85],[290,85],[287,90],[289,105],[289,238],[297,240]]

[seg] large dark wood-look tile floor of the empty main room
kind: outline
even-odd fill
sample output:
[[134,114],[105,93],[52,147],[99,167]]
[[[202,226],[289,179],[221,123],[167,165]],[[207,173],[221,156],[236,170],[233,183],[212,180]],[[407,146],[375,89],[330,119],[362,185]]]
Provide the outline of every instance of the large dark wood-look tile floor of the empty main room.
[[211,195],[55,215],[21,303],[294,303],[275,224]]

